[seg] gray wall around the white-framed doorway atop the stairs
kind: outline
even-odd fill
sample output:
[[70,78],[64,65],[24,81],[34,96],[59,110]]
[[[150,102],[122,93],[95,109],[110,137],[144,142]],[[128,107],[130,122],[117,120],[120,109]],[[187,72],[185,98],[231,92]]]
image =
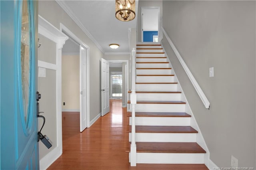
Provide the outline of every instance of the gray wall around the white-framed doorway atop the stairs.
[[138,19],[137,19],[137,42],[141,42],[141,7],[146,7],[146,6],[159,6],[160,7],[160,20],[163,16],[162,13],[162,7],[163,7],[163,2],[162,0],[139,0],[138,3]]

